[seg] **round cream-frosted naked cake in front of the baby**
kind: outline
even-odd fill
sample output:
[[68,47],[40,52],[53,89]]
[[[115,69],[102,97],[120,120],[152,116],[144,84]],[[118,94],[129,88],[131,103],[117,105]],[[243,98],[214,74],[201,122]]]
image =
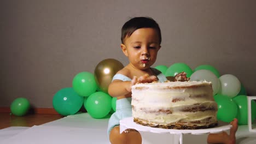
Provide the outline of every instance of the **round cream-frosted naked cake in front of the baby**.
[[218,124],[211,82],[137,83],[131,105],[133,121],[149,127],[202,129]]

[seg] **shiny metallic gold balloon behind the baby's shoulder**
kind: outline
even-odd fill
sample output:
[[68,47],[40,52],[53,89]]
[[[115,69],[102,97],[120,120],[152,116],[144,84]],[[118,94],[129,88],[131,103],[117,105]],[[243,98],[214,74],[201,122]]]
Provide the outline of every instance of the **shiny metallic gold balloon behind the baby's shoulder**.
[[104,59],[97,64],[94,76],[102,92],[108,93],[108,86],[112,82],[113,76],[123,68],[124,65],[113,58]]

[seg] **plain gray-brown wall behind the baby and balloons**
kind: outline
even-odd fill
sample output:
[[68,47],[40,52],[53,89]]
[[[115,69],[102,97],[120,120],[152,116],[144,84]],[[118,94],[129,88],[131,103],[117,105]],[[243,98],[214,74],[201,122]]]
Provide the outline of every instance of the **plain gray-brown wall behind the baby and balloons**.
[[0,106],[25,97],[53,107],[54,94],[81,71],[114,58],[124,65],[120,29],[150,16],[162,30],[153,65],[211,64],[256,95],[255,1],[1,1]]

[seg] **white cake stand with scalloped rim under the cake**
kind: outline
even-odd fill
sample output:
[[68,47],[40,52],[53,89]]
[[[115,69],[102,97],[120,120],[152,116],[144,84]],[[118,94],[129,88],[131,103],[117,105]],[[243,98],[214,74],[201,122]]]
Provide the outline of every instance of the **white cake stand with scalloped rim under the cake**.
[[232,127],[231,124],[224,123],[219,121],[218,126],[208,129],[162,129],[162,128],[152,128],[144,125],[136,124],[133,122],[133,117],[127,117],[120,120],[120,134],[123,133],[126,129],[136,129],[138,131],[149,131],[151,133],[170,133],[170,134],[179,134],[179,143],[182,144],[183,134],[193,134],[201,135],[207,133],[220,133],[224,130],[229,130]]

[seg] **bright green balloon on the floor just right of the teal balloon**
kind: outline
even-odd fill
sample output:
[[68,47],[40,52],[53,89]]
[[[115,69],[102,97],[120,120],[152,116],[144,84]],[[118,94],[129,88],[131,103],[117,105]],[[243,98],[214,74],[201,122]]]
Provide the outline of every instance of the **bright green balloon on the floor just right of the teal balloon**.
[[112,109],[112,97],[107,93],[95,92],[86,100],[86,110],[93,118],[103,118]]

